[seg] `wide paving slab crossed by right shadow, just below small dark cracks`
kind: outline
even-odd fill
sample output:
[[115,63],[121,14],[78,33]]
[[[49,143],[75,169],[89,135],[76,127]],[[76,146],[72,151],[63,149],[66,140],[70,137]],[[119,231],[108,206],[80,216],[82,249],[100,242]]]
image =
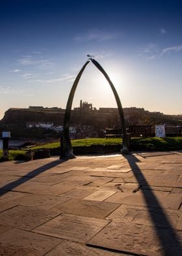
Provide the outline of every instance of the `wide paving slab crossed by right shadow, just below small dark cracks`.
[[[145,197],[144,197],[145,194]],[[146,191],[137,192],[137,193],[115,193],[110,196],[109,199],[106,199],[105,202],[115,202],[116,204],[133,204],[140,206],[148,207],[157,207],[157,208],[169,208],[177,210],[181,205],[181,197],[168,197],[153,191],[152,193],[146,189]]]

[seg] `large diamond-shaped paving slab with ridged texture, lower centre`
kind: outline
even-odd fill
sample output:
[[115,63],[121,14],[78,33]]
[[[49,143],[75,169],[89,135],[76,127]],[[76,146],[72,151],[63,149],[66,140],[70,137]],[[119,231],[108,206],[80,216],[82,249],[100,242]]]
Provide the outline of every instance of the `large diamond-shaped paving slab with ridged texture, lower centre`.
[[105,219],[62,214],[37,227],[33,232],[86,243],[108,223]]

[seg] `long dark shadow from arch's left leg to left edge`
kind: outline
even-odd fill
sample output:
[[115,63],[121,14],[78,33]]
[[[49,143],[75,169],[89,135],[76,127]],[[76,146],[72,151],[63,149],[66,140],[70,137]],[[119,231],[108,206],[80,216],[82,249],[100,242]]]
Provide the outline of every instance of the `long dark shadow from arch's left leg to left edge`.
[[42,167],[38,167],[35,170],[31,170],[31,172],[28,172],[18,180],[15,180],[14,182],[11,182],[3,187],[0,187],[0,197],[2,195],[5,195],[5,193],[8,193],[8,191],[14,189],[15,187],[18,187],[19,185],[31,180],[38,174],[41,174],[42,172],[45,172],[46,170],[49,170],[53,167],[56,167],[57,165],[60,165],[60,163],[65,162],[66,160],[55,160],[51,163],[47,163],[46,165],[42,165]]

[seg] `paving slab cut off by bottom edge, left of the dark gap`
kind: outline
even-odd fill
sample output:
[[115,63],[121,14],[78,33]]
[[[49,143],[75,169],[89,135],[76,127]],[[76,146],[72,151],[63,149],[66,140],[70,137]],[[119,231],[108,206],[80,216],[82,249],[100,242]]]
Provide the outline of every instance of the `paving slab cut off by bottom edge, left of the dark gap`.
[[63,241],[55,249],[45,254],[46,256],[129,256],[125,253],[114,253],[105,249],[96,249],[84,244]]

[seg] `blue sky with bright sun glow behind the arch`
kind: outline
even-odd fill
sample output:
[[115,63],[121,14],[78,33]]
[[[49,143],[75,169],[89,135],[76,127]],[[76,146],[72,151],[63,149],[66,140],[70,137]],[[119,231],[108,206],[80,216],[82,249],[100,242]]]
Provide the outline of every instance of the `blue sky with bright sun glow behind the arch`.
[[[8,108],[66,107],[75,76],[93,54],[123,107],[182,113],[182,1],[1,0],[0,118]],[[79,100],[115,107],[92,63]]]

